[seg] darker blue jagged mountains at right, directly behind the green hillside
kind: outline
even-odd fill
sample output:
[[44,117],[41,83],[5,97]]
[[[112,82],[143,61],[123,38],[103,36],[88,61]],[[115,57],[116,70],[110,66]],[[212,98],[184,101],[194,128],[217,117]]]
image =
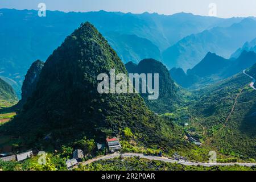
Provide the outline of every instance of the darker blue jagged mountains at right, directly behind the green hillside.
[[177,84],[195,89],[236,75],[255,63],[256,53],[253,51],[243,51],[237,59],[225,59],[208,52],[199,64],[188,69],[187,74],[181,68],[172,68],[170,74]]

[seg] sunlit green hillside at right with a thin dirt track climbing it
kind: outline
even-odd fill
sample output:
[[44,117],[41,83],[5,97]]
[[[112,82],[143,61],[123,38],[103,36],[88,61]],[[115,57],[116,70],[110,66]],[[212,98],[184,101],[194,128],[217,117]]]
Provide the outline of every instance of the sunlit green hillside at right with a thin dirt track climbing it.
[[197,91],[192,114],[204,145],[222,154],[255,159],[256,91],[249,87],[250,81],[239,73]]

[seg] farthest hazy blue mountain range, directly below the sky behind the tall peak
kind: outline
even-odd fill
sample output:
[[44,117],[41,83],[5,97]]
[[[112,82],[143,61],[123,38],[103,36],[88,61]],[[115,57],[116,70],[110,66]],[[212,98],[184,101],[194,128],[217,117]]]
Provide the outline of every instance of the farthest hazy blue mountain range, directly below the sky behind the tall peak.
[[16,82],[14,86],[19,88],[18,94],[31,63],[37,59],[45,61],[64,38],[86,20],[102,32],[124,63],[136,63],[151,57],[160,60],[159,51],[185,36],[216,26],[228,27],[242,20],[186,13],[159,15],[47,11],[47,16],[41,18],[35,10],[1,9],[0,13],[0,76]]

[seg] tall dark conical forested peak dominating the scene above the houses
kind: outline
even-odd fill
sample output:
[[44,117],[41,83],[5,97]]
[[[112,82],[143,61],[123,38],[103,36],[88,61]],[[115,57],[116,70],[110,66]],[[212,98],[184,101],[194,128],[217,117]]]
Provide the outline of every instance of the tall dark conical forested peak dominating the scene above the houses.
[[131,129],[137,142],[148,145],[178,135],[174,125],[163,135],[163,119],[148,110],[138,94],[97,92],[98,74],[110,75],[112,68],[115,73],[127,74],[125,65],[96,28],[82,24],[49,56],[22,113],[3,130],[7,127],[9,133],[15,130],[16,135],[31,137],[28,143],[40,142],[51,133],[55,144],[83,137],[122,137],[125,127]]

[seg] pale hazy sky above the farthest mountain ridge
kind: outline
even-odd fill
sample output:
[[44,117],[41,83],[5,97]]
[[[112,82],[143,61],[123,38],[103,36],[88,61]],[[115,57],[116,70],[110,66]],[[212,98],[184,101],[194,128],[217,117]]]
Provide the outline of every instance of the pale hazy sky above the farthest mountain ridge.
[[38,9],[45,3],[47,10],[60,11],[122,11],[124,13],[174,14],[181,11],[198,15],[209,14],[209,4],[217,5],[217,16],[256,16],[255,0],[0,0],[0,9]]

